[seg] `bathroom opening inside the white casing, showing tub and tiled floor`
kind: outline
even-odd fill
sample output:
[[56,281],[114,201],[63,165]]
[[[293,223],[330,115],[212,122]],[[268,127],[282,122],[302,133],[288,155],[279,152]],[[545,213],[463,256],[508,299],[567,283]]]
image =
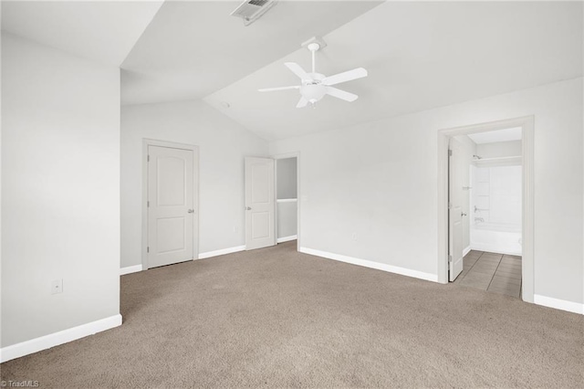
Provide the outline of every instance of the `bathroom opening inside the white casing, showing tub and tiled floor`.
[[521,127],[456,135],[449,159],[449,199],[460,213],[449,237],[464,247],[463,263],[449,279],[515,298],[522,279],[521,140]]

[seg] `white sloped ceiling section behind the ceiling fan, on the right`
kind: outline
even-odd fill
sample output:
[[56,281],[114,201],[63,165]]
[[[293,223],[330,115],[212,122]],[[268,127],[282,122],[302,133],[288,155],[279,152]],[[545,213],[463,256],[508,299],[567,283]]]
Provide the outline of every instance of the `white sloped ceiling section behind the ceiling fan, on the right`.
[[256,91],[297,83],[283,63],[308,68],[304,48],[205,100],[276,140],[582,76],[581,3],[388,2],[324,38],[319,72],[369,70],[338,85],[359,100],[325,97],[316,109],[296,109],[297,90]]

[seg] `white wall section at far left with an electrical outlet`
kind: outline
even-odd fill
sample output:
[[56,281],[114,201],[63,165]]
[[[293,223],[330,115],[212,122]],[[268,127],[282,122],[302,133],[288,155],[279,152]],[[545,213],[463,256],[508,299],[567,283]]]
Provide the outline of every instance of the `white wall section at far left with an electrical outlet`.
[[3,33],[2,102],[5,347],[120,313],[120,70]]

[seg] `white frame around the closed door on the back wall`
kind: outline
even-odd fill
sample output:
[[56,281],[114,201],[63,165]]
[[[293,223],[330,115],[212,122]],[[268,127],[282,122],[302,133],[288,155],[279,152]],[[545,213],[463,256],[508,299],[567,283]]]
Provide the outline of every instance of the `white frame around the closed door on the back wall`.
[[142,269],[148,269],[148,147],[158,146],[193,152],[193,260],[199,258],[199,146],[192,144],[142,139]]

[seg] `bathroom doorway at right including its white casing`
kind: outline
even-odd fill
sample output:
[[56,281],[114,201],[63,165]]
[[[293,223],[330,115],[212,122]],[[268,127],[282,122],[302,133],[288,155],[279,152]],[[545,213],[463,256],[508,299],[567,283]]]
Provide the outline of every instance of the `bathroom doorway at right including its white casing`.
[[438,280],[533,302],[533,118],[438,138]]

